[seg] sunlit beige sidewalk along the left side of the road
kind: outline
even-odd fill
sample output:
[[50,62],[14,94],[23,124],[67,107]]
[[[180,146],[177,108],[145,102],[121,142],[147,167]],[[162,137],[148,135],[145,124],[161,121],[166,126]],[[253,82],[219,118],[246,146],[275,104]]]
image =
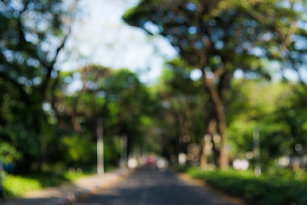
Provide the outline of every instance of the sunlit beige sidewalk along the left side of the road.
[[58,187],[26,193],[18,199],[8,200],[1,205],[64,205],[105,188],[132,173],[132,170],[117,169],[102,176],[92,175],[80,178],[74,183],[64,183]]

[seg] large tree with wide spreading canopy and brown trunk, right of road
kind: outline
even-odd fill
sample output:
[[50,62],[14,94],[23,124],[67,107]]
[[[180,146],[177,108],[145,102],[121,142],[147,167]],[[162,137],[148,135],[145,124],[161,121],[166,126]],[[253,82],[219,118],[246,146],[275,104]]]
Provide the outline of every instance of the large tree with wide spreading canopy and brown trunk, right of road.
[[297,26],[306,21],[304,8],[300,1],[143,0],[123,18],[149,34],[167,37],[183,59],[201,70],[212,103],[206,132],[221,136],[219,166],[224,169],[228,166],[224,96],[233,74],[241,69],[251,77],[270,78],[264,59],[289,65],[295,45],[306,41],[306,30]]

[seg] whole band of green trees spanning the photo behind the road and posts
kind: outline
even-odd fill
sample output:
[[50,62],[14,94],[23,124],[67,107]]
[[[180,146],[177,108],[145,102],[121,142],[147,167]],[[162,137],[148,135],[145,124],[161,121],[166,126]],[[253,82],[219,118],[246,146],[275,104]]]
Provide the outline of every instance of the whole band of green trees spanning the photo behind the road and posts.
[[[141,1],[123,19],[165,36],[179,52],[151,86],[128,69],[61,71],[57,60],[76,7],[0,2],[0,160],[16,172],[95,165],[98,117],[110,165],[125,136],[128,156],[155,152],[175,160],[184,152],[202,168],[226,169],[253,151],[255,128],[265,166],[305,154],[305,2]],[[194,69],[201,79],[190,77]],[[295,82],[288,71],[298,74]]]

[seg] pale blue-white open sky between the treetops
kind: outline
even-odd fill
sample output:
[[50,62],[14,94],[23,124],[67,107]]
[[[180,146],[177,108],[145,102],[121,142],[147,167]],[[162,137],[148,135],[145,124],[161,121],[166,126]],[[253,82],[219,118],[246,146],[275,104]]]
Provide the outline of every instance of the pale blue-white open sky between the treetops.
[[[163,62],[177,55],[162,36],[148,36],[142,29],[127,25],[121,16],[138,0],[80,0],[81,13],[67,42],[70,55],[62,57],[62,70],[99,64],[139,73],[140,81],[156,82]],[[77,77],[76,77],[77,78]],[[75,82],[77,85],[79,82]]]

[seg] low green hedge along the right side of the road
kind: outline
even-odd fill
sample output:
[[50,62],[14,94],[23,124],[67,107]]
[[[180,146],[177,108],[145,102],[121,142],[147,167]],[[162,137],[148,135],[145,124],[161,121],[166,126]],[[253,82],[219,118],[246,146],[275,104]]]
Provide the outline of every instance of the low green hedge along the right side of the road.
[[276,171],[256,177],[251,171],[185,168],[190,176],[253,205],[307,205],[307,179]]

